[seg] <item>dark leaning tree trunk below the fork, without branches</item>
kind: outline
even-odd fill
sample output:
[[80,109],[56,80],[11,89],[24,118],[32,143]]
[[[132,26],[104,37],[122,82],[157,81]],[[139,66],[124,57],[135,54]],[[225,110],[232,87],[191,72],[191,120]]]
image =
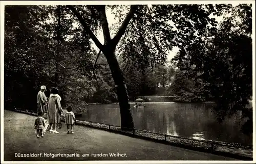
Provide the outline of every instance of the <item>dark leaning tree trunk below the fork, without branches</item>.
[[110,66],[110,70],[112,73],[112,77],[115,82],[116,94],[118,97],[119,107],[120,107],[120,115],[121,115],[121,128],[122,129],[133,129],[133,115],[131,112],[131,106],[129,103],[129,97],[127,94],[127,89],[124,83],[124,77],[122,71],[119,67],[118,61],[115,56],[115,49],[110,48],[111,45],[104,46],[103,54],[108,61]]

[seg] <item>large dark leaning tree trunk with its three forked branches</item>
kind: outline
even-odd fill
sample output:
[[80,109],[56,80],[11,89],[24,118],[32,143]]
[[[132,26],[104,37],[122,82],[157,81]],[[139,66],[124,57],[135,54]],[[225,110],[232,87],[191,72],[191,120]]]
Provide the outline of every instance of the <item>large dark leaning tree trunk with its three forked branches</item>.
[[116,86],[116,93],[119,101],[120,106],[120,115],[121,115],[121,128],[122,129],[133,129],[133,115],[131,112],[131,107],[129,103],[129,97],[127,94],[127,90],[124,84],[124,77],[122,75],[122,71],[119,67],[115,56],[115,48],[120,41],[121,37],[123,36],[129,21],[134,15],[135,10],[137,9],[136,5],[132,5],[129,13],[127,14],[126,18],[124,19],[119,31],[117,32],[116,36],[111,39],[110,36],[110,29],[108,20],[106,19],[105,13],[105,5],[94,6],[95,9],[99,12],[100,20],[102,24],[103,36],[104,36],[104,45],[102,45],[97,37],[93,34],[90,30],[89,26],[87,25],[84,18],[77,12],[77,10],[73,6],[68,6],[70,10],[73,11],[74,15],[78,18],[79,22],[82,24],[84,30],[90,35],[96,46],[103,52],[108,64],[110,66],[110,70],[112,73],[112,77],[115,82]]

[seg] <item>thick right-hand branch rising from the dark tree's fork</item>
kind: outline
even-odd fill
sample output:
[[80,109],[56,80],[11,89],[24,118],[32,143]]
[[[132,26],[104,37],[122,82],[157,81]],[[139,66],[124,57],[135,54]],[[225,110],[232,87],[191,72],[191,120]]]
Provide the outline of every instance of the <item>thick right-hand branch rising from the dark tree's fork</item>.
[[137,9],[137,5],[131,5],[131,9],[129,11],[129,13],[127,14],[126,18],[124,19],[119,31],[117,32],[116,36],[113,38],[113,44],[116,46],[117,43],[119,42],[119,40],[121,39],[121,37],[123,36],[130,20],[132,19],[134,12]]

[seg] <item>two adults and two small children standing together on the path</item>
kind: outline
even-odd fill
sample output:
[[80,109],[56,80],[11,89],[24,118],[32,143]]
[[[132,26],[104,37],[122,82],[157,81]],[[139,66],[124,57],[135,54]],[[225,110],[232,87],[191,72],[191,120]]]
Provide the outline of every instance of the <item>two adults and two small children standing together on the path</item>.
[[44,115],[47,114],[47,120],[50,125],[50,133],[59,133],[56,130],[57,125],[60,123],[61,115],[65,115],[65,124],[67,125],[68,134],[74,133],[73,127],[75,124],[75,115],[72,112],[72,106],[67,107],[67,112],[63,114],[63,109],[61,107],[59,96],[59,90],[57,88],[50,89],[49,98],[45,95],[46,86],[41,86],[40,91],[37,94],[37,119],[35,120],[36,136],[39,138],[44,137],[43,129],[45,128]]

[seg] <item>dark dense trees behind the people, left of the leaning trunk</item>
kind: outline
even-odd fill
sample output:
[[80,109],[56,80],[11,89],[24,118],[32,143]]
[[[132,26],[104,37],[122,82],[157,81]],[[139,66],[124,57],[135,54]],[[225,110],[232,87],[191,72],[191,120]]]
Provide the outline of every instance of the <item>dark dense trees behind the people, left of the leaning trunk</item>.
[[51,87],[58,87],[63,106],[72,103],[78,107],[76,104],[84,104],[84,98],[93,97],[94,102],[116,101],[105,76],[110,72],[108,66],[97,64],[97,79],[92,78],[97,52],[80,27],[72,26],[74,22],[67,12],[59,6],[6,7],[6,105],[36,110],[35,95],[41,85],[47,86],[47,96]]

